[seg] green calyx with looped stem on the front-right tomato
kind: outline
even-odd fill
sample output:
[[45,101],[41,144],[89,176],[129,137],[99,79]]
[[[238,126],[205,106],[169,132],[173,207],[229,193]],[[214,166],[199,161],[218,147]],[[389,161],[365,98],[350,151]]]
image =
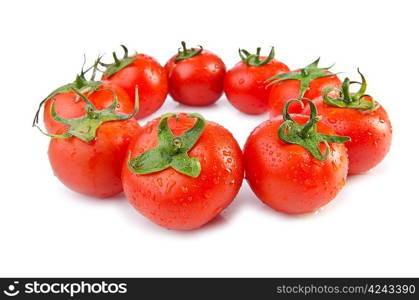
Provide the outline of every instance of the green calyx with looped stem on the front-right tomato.
[[[278,137],[283,142],[300,145],[317,160],[325,161],[330,153],[329,143],[345,143],[350,141],[351,138],[318,133],[316,124],[320,121],[321,117],[317,115],[317,109],[314,103],[309,99],[303,99],[310,105],[310,119],[304,125],[295,122],[288,113],[288,107],[293,101],[297,101],[303,105],[302,99],[291,99],[287,101],[283,110],[284,123],[278,129]],[[321,143],[326,147],[325,153],[321,153],[320,151]]]

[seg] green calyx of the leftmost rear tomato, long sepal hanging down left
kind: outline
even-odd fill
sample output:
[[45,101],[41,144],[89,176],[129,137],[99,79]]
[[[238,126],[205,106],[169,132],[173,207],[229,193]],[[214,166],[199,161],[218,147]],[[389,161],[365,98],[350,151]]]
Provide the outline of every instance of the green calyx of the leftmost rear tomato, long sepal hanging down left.
[[[100,60],[101,60],[101,56],[99,56],[95,63],[87,68],[86,70],[84,70],[84,65],[86,63],[86,58],[84,59],[84,63],[83,66],[81,68],[81,72],[80,74],[77,74],[76,79],[68,84],[65,84],[63,86],[60,86],[59,88],[55,89],[54,91],[52,91],[46,98],[44,98],[41,103],[39,103],[39,107],[35,113],[35,117],[33,119],[32,122],[32,127],[35,127],[38,125],[39,122],[39,114],[41,112],[42,106],[45,104],[46,101],[48,101],[49,99],[59,95],[59,94],[63,94],[63,93],[67,93],[67,92],[71,92],[73,90],[77,90],[82,94],[87,93],[87,96],[89,96],[90,94],[92,94],[94,91],[96,91],[100,86],[103,85],[102,81],[96,81],[95,77],[96,77],[96,71],[97,71],[97,66],[98,64],[100,64]],[[89,72],[90,70],[92,70],[92,74],[90,76],[89,79],[86,78],[86,73]],[[74,97],[74,101],[77,101],[79,98],[78,95],[76,95]]]

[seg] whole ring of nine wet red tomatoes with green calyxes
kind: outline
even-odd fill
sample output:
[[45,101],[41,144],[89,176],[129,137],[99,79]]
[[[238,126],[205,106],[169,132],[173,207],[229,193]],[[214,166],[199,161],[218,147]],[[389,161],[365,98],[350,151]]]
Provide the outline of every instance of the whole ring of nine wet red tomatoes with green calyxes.
[[[359,70],[361,82],[341,81],[319,59],[290,71],[272,47],[268,56],[260,48],[239,49],[241,61],[227,71],[220,57],[184,42],[163,67],[122,48],[122,57],[114,52],[112,63],[99,57],[51,92],[33,125],[43,107],[46,132],[40,130],[51,137],[49,160],[64,185],[98,198],[124,191],[160,226],[191,230],[208,223],[234,200],[244,175],[273,209],[316,211],[348,175],[374,168],[390,149],[390,119],[366,94]],[[168,94],[199,107],[223,93],[243,113],[269,111],[243,152],[226,128],[199,113],[166,113],[143,126],[136,120],[158,110]]]

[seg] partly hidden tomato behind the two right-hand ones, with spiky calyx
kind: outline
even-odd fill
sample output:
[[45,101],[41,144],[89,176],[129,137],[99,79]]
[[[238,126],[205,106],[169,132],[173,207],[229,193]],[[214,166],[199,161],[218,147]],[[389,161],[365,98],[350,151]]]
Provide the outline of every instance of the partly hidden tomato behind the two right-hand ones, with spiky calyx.
[[[340,79],[329,72],[329,68],[319,68],[319,59],[303,69],[289,73],[283,73],[271,77],[272,89],[269,94],[269,114],[271,118],[282,114],[284,104],[290,99],[308,98],[315,99],[321,95],[323,88],[327,86],[339,87]],[[292,103],[290,113],[301,113],[303,107],[298,103]]]

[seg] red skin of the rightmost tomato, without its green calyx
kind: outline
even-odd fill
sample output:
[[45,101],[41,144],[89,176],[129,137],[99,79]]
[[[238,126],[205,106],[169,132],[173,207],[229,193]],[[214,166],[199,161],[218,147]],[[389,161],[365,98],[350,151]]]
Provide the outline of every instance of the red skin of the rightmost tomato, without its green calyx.
[[[371,100],[364,98],[368,99]],[[333,128],[338,135],[351,137],[351,141],[345,143],[348,148],[349,174],[367,172],[384,159],[390,150],[392,127],[382,106],[372,113],[363,113],[356,109],[327,105],[323,103],[322,97],[315,99],[314,103],[323,123]]]

